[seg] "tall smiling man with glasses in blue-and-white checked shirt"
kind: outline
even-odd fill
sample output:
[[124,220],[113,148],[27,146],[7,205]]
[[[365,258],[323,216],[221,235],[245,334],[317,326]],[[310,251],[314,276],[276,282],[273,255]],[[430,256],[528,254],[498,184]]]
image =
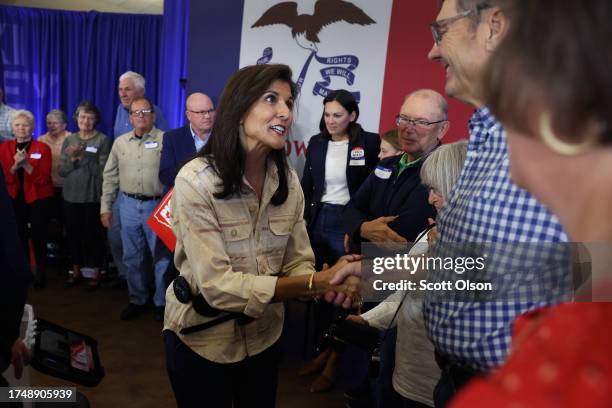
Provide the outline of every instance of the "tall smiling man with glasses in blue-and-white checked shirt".
[[[567,240],[556,218],[530,193],[512,183],[504,128],[483,104],[481,73],[510,24],[499,7],[501,3],[445,0],[431,25],[434,44],[428,57],[445,69],[446,93],[476,108],[469,123],[470,142],[463,171],[452,199],[437,219],[440,243]],[[491,264],[502,259],[501,253],[487,254]],[[515,260],[525,262],[522,257]],[[489,265],[487,278],[499,274],[520,281],[527,274],[541,277],[555,266],[539,262],[529,259],[531,269]],[[535,301],[535,286],[521,285],[521,298],[530,299],[524,302],[440,302],[439,297],[436,301],[436,296],[426,295],[425,326],[442,369],[434,392],[436,407],[445,406],[474,376],[486,374],[504,362],[514,318],[545,303],[543,298]]]

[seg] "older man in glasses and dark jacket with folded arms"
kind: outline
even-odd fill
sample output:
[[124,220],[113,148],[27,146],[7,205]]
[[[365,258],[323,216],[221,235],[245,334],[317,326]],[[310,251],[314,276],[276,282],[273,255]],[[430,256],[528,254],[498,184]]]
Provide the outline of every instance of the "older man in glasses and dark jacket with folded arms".
[[344,213],[347,251],[351,243],[354,247],[363,241],[413,241],[434,217],[419,171],[448,131],[447,115],[446,100],[434,90],[406,96],[396,116],[404,154],[382,160],[349,202]]

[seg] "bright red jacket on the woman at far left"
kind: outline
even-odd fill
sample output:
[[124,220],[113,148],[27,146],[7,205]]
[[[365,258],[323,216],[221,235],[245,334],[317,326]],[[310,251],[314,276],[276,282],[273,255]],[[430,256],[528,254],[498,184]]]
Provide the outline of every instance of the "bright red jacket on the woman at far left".
[[[15,163],[13,157],[16,151],[16,140],[9,140],[0,144],[0,165],[6,180],[6,189],[12,198],[17,197],[21,185],[17,172],[11,174],[11,167]],[[53,182],[51,181],[51,149],[42,142],[32,140],[28,151],[28,162],[32,165],[32,174],[23,172],[23,190],[25,201],[28,204],[41,198],[53,196]]]

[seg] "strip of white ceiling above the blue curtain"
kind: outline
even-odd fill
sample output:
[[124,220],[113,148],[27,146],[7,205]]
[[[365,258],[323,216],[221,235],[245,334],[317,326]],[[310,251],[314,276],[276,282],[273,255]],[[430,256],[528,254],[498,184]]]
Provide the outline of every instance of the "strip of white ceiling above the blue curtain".
[[60,10],[163,14],[164,0],[1,0],[2,4]]

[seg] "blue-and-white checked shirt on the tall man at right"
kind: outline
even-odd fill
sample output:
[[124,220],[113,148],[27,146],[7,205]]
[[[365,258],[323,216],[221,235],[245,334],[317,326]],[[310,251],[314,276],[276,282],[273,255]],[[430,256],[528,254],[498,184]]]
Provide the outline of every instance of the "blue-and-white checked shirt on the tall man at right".
[[[497,251],[491,259],[496,263],[492,269],[497,269],[493,273],[503,276],[503,283],[520,282],[514,286],[520,288],[516,298],[520,301],[440,302],[428,294],[423,311],[425,326],[439,352],[457,364],[487,371],[503,363],[516,316],[561,300],[558,293],[542,294],[550,290],[547,278],[557,279],[554,284],[558,284],[560,269],[565,272],[559,258],[551,263],[551,257],[534,254],[537,245],[523,245],[530,252],[517,258],[508,256],[508,248],[520,245],[505,243],[552,245],[566,242],[567,235],[554,215],[511,182],[506,134],[488,108],[474,113],[469,129],[464,168],[438,217],[440,242],[491,243],[486,244],[489,250]],[[537,284],[526,283],[534,277]]]

